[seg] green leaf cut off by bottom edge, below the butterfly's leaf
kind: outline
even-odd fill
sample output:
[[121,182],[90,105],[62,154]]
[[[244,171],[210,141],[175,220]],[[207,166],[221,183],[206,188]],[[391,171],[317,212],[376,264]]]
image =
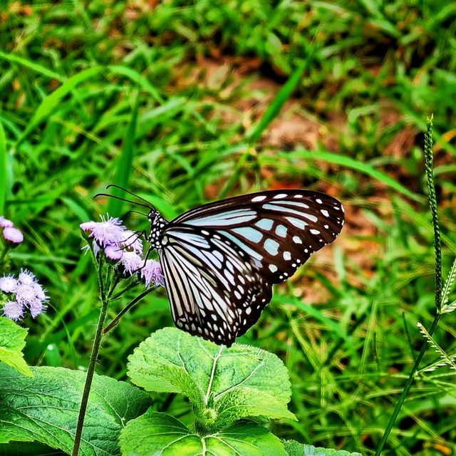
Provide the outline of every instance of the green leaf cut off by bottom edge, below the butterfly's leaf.
[[286,456],[279,438],[263,426],[238,423],[203,437],[176,418],[153,410],[125,426],[120,450],[123,456]]

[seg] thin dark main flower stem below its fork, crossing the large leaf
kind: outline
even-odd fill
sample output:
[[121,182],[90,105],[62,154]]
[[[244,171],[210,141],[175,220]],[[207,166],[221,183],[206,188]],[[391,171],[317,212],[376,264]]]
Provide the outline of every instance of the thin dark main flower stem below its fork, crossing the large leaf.
[[81,400],[81,408],[78,415],[78,426],[76,427],[76,437],[74,439],[72,456],[78,456],[79,447],[81,446],[81,437],[83,433],[84,419],[86,418],[86,410],[88,404],[88,397],[90,394],[90,387],[92,386],[93,373],[95,372],[95,364],[98,359],[98,352],[100,351],[100,343],[102,337],[103,326],[105,325],[106,312],[108,310],[109,301],[107,299],[101,300],[100,316],[98,317],[97,331],[95,339],[93,340],[92,352],[90,353],[90,362],[86,376],[86,383],[84,385],[83,398]]

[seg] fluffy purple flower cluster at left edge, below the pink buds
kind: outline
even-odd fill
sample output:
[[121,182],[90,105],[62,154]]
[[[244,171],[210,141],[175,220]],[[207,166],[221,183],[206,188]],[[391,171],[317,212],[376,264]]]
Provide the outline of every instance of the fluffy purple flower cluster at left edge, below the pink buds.
[[46,310],[48,297],[30,271],[21,269],[17,279],[12,275],[0,277],[0,290],[9,299],[4,302],[3,314],[11,320],[21,320],[26,309],[33,318]]

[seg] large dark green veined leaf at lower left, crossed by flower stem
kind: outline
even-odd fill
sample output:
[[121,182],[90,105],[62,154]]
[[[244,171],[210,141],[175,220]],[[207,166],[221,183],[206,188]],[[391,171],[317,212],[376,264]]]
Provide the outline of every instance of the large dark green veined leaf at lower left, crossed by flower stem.
[[[33,378],[0,365],[0,443],[39,442],[71,452],[86,373],[32,368]],[[150,400],[138,388],[95,375],[81,442],[81,456],[119,454],[118,436]]]

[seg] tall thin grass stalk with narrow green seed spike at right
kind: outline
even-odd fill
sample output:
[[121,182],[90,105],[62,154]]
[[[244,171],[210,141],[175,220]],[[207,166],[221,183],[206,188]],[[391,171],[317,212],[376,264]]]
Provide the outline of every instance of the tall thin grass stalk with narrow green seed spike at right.
[[[429,330],[429,335],[435,331],[437,328],[437,324],[440,321],[440,317],[442,316],[440,309],[441,309],[441,297],[442,297],[442,246],[440,241],[440,225],[439,225],[439,217],[437,211],[437,197],[435,195],[435,185],[434,185],[434,175],[432,171],[432,162],[433,162],[433,152],[432,152],[432,117],[427,118],[426,122],[426,134],[425,134],[425,168],[426,168],[426,177],[427,177],[427,188],[429,190],[427,198],[429,200],[430,212],[432,214],[432,224],[434,227],[434,249],[435,249],[435,307],[437,309],[437,314],[435,315],[434,321],[432,321],[432,326]],[[415,373],[418,371],[420,367],[420,363],[423,360],[423,356],[425,356],[425,352],[427,349],[427,341],[423,342],[423,346],[421,347],[420,353],[413,364],[412,371],[410,371],[410,375],[408,376],[407,383],[405,383],[405,387],[403,392],[400,394],[398,402],[395,405],[393,410],[393,414],[388,421],[388,425],[385,428],[385,432],[378,444],[377,450],[375,451],[375,456],[380,456],[385,446],[386,441],[390,435],[391,430],[393,429],[393,425],[395,423],[396,418],[398,418],[400,409],[403,406],[405,398],[410,391],[410,387],[412,386],[413,380],[415,379]]]

